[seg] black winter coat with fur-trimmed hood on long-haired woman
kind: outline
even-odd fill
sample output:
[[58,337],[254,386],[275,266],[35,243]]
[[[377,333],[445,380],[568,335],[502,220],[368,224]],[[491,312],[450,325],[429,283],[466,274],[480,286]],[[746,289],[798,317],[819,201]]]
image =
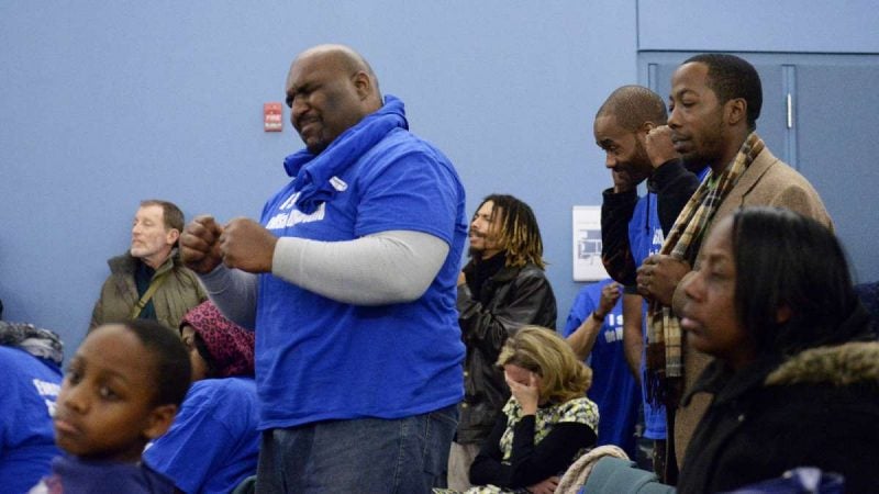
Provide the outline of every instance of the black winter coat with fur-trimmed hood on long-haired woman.
[[730,491],[797,467],[842,473],[848,493],[879,492],[879,343],[819,347],[735,373],[715,360],[694,390],[716,394],[678,493]]

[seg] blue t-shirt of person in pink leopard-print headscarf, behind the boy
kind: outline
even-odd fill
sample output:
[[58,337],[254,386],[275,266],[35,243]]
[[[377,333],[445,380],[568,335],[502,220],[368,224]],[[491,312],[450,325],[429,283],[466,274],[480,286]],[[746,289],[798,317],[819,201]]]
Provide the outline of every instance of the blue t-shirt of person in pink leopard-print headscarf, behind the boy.
[[259,402],[251,378],[192,383],[171,428],[144,461],[189,493],[226,494],[256,474]]

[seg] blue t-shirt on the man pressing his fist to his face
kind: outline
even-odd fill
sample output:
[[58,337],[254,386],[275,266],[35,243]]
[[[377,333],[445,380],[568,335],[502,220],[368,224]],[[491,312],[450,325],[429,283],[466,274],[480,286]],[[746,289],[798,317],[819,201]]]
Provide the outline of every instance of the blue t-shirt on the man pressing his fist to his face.
[[[639,267],[644,259],[658,254],[663,248],[665,235],[663,225],[659,223],[659,212],[656,205],[656,194],[647,193],[638,199],[632,220],[628,221],[628,244],[632,248],[632,256],[635,263]],[[644,335],[644,350],[641,355],[641,382],[645,382],[646,375],[646,349],[647,349],[647,303],[644,303],[642,334]],[[665,439],[667,436],[666,407],[663,405],[654,406],[647,398],[647,386],[641,386],[642,402],[644,404],[644,437],[648,439]]]

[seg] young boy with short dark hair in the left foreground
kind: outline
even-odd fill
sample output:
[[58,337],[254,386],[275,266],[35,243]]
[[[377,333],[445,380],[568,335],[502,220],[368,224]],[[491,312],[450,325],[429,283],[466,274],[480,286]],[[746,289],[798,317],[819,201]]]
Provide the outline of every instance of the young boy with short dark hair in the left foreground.
[[174,493],[141,462],[146,444],[170,427],[191,367],[177,334],[155,321],[99,326],[67,368],[55,411],[52,474],[31,493]]

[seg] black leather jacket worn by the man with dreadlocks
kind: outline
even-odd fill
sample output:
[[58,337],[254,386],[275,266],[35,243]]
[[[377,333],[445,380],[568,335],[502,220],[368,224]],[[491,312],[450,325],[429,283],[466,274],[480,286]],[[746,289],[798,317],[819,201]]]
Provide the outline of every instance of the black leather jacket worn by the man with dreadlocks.
[[[471,271],[472,262],[464,268],[465,273]],[[481,444],[510,397],[503,372],[494,366],[507,337],[527,324],[556,326],[553,288],[535,265],[501,268],[486,280],[481,292],[475,297],[467,284],[458,287],[458,323],[467,347],[456,437],[463,445]]]

